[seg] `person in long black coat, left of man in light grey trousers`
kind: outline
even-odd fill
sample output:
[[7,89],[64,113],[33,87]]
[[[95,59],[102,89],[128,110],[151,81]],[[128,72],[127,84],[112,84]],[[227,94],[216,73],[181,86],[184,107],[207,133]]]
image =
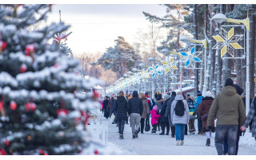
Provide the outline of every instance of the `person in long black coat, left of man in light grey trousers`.
[[125,128],[125,122],[127,121],[128,117],[128,104],[126,98],[124,97],[123,91],[119,92],[118,99],[114,103],[114,110],[116,113],[116,118],[118,120],[118,130],[119,130],[119,138],[123,139],[123,130]]

